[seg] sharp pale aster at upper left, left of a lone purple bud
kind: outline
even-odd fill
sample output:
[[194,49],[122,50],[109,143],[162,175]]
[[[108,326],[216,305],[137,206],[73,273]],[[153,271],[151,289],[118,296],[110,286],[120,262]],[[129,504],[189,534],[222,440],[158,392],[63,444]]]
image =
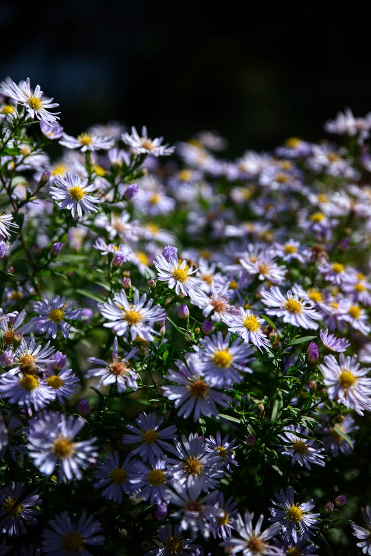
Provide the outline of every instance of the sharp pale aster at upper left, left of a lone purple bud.
[[80,177],[67,172],[65,177],[56,177],[50,193],[55,201],[60,201],[58,207],[71,210],[71,214],[75,218],[76,213],[81,217],[82,212],[90,214],[90,212],[98,211],[95,205],[100,203],[100,199],[89,194],[96,191],[98,187],[93,183],[88,185],[87,178],[81,180]]

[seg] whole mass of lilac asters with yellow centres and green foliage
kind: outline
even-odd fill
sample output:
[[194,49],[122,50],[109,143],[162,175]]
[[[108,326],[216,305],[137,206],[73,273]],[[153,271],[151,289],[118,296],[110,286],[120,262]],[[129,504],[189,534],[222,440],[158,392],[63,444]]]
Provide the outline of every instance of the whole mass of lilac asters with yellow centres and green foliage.
[[0,553],[371,554],[371,116],[161,159],[0,93]]

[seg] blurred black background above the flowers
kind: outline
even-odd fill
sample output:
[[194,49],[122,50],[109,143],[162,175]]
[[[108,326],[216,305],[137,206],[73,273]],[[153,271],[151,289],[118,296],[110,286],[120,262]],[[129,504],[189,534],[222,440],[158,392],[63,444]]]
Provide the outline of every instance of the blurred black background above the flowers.
[[339,110],[371,110],[369,18],[347,9],[1,2],[0,77],[39,83],[72,135],[108,120],[166,142],[217,130],[232,156],[315,141]]

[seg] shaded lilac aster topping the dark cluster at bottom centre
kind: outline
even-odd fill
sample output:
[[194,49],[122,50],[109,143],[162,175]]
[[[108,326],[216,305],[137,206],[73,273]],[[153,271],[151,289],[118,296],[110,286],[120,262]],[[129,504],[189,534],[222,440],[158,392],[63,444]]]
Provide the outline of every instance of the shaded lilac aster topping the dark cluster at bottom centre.
[[152,465],[158,458],[164,458],[165,451],[174,451],[171,444],[166,440],[176,439],[176,426],[170,425],[160,430],[163,417],[157,419],[155,411],[147,415],[141,413],[136,419],[137,426],[126,425],[126,428],[134,434],[124,434],[122,438],[123,444],[133,444],[140,442],[141,445],[135,450],[131,450],[132,455],[139,455],[144,461],[148,460]]

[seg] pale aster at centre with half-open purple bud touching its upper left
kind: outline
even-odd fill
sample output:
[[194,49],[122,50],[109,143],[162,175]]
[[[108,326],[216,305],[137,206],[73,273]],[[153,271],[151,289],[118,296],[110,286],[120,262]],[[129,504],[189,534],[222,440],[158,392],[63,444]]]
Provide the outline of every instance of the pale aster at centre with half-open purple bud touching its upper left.
[[179,261],[176,254],[169,256],[166,260],[164,255],[157,255],[154,259],[157,269],[157,279],[167,282],[170,290],[175,288],[176,295],[180,292],[184,295],[192,295],[194,290],[201,290],[202,280],[192,276],[197,269],[193,269],[185,260]]

